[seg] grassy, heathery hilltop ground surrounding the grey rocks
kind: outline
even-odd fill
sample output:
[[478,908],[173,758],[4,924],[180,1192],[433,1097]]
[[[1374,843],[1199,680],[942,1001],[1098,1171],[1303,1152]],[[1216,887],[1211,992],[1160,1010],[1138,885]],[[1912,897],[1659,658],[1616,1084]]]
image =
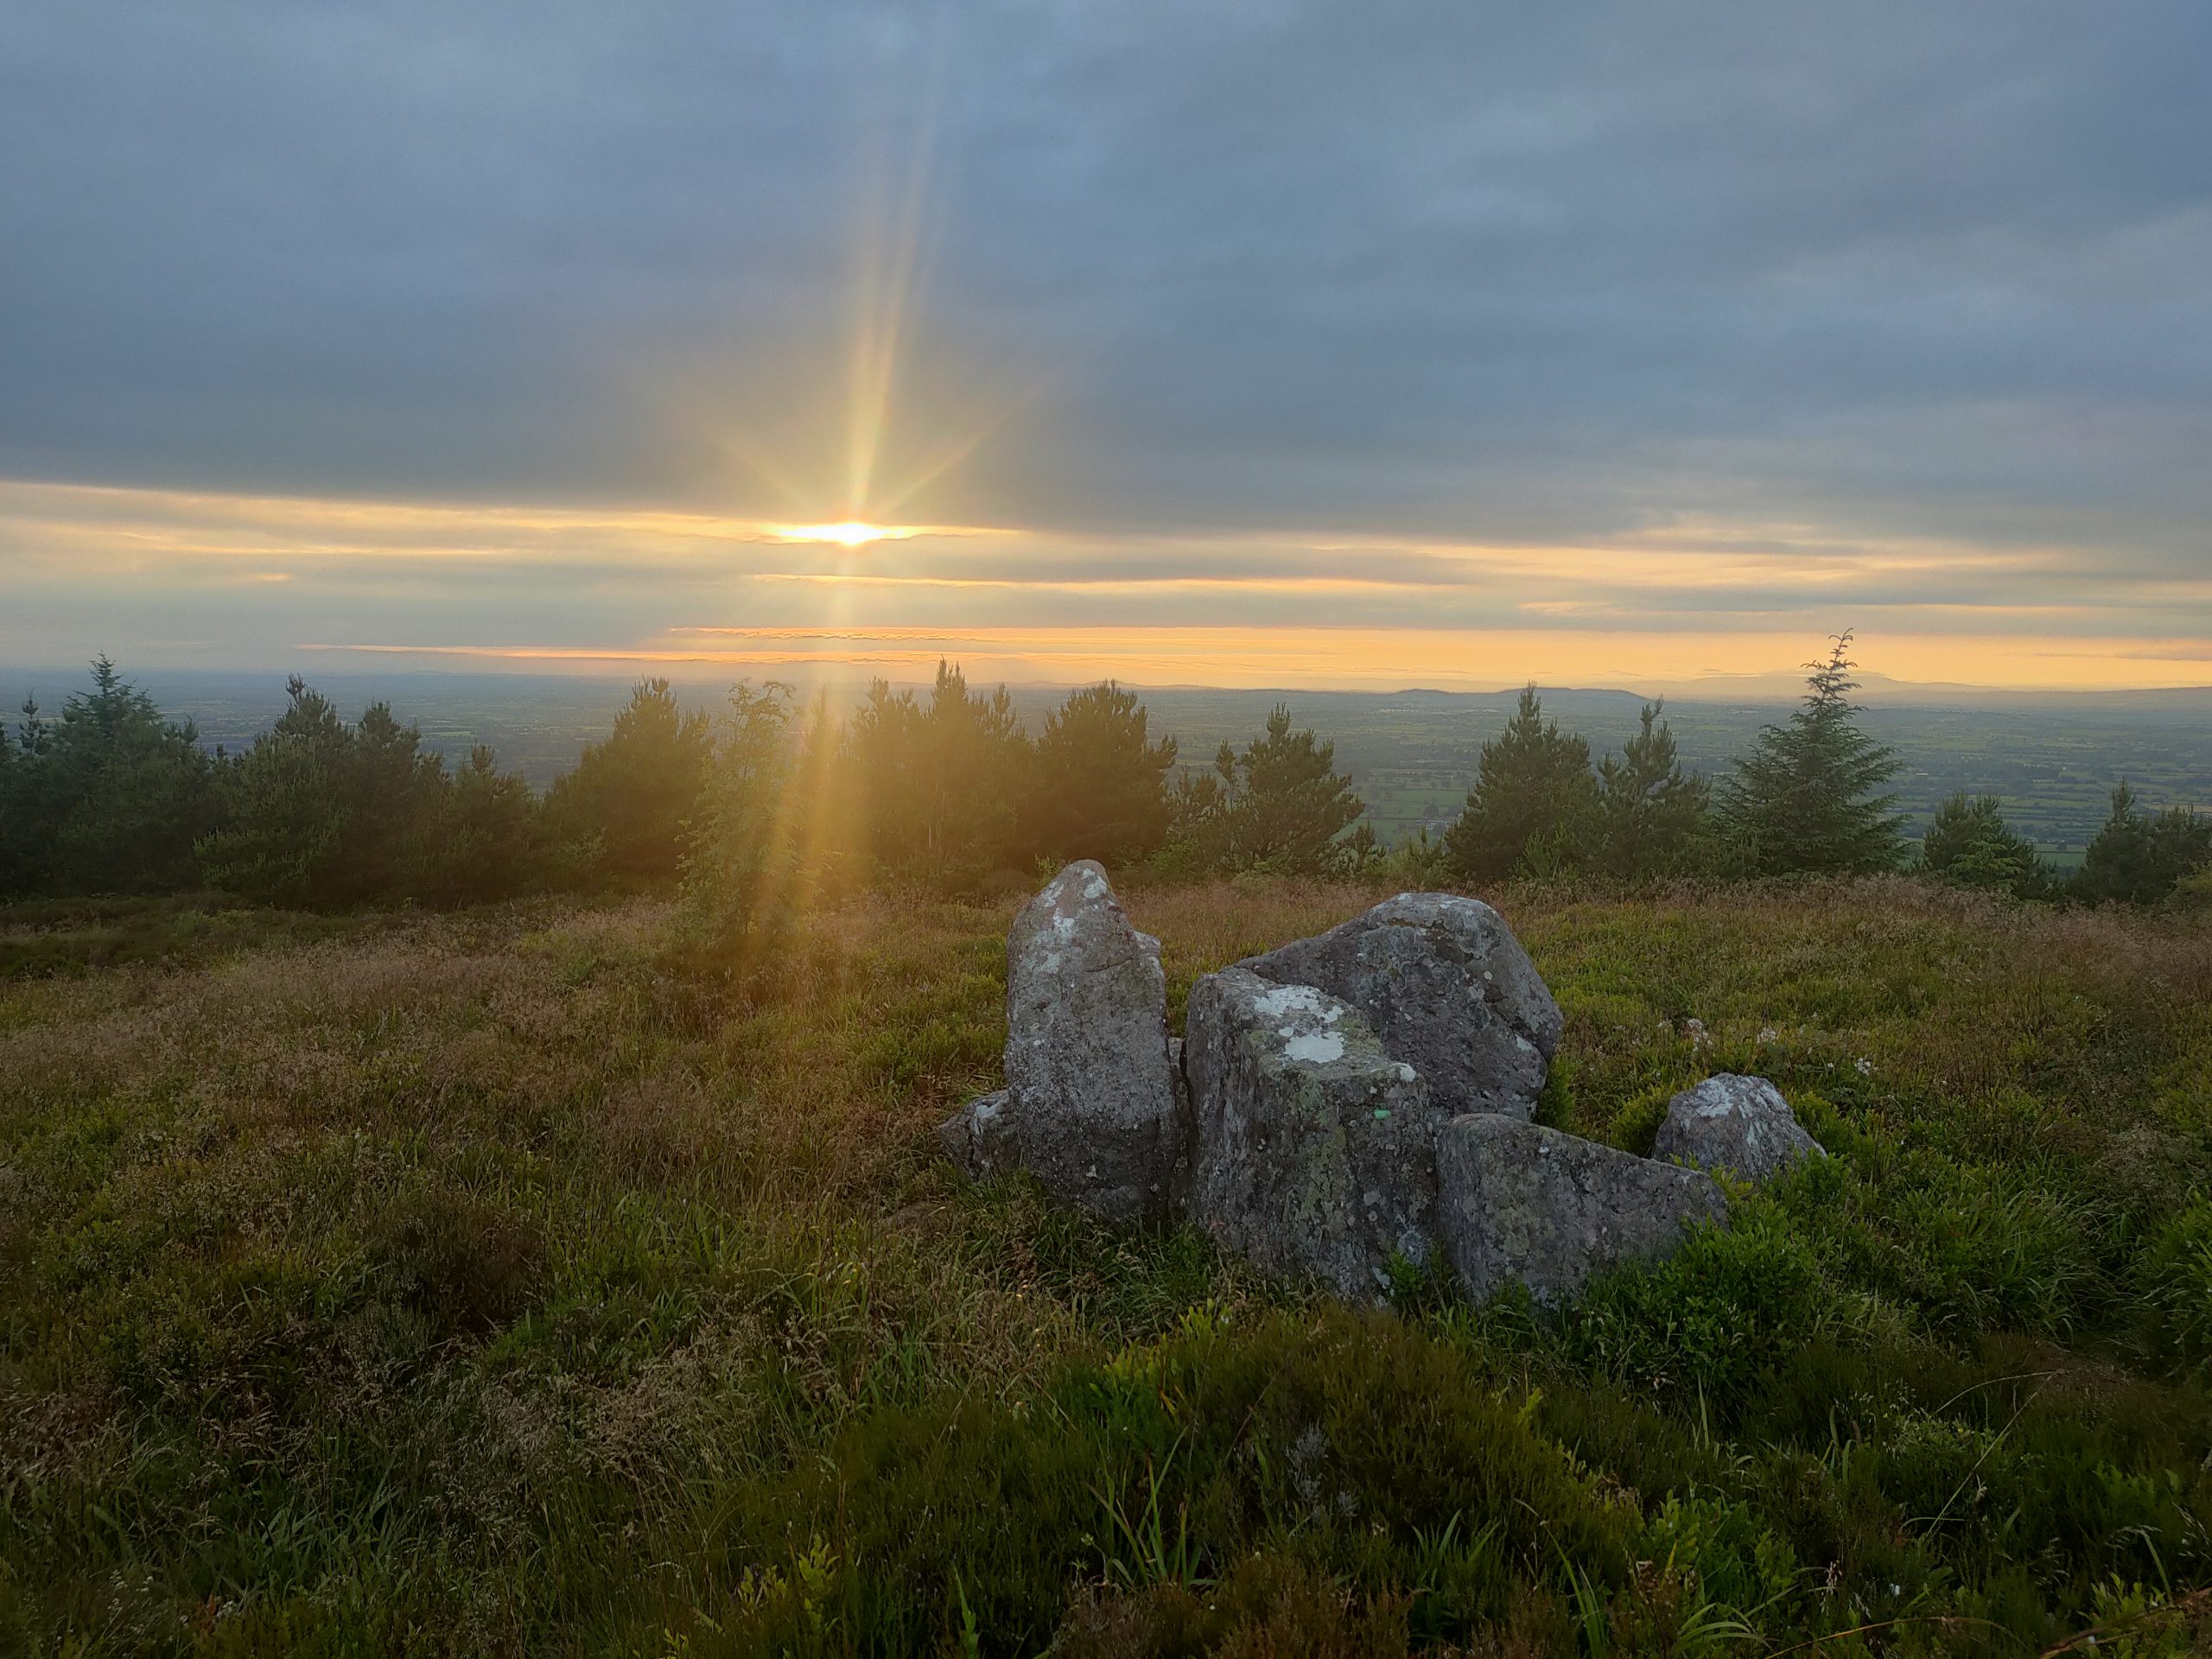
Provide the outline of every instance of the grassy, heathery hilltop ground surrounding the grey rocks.
[[[1378,896],[1128,891],[1177,1022]],[[752,1000],[646,900],[0,922],[0,1650],[2212,1635],[2212,929],[1486,896],[1548,1121],[1759,1071],[1836,1157],[1559,1316],[1347,1312],[958,1186],[1013,898],[852,900]]]

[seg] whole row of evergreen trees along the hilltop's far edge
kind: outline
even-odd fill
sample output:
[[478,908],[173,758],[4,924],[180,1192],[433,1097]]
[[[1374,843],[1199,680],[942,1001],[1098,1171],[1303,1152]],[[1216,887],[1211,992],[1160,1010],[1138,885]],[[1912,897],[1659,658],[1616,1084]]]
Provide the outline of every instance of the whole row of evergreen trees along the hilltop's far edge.
[[[0,732],[0,898],[212,887],[347,909],[684,878],[708,914],[754,927],[825,885],[973,891],[1068,858],[1177,876],[1387,867],[1407,883],[1902,869],[1898,759],[1860,726],[1854,690],[1840,635],[1809,666],[1798,708],[1708,781],[1683,770],[1661,703],[1617,754],[1593,759],[1531,686],[1482,745],[1458,821],[1385,856],[1334,748],[1283,706],[1197,768],[1110,681],[1071,692],[1031,737],[1004,688],[984,695],[949,664],[927,695],[876,681],[845,721],[779,684],[737,686],[710,719],[646,679],[613,732],[538,796],[487,748],[449,768],[389,706],[347,721],[296,677],[268,732],[210,754],[102,657],[60,717],[24,703],[15,732]],[[2152,905],[2212,887],[2212,818],[2152,814],[2124,783],[2062,880],[1995,796],[1955,794],[1929,821],[1918,867],[2017,898]]]

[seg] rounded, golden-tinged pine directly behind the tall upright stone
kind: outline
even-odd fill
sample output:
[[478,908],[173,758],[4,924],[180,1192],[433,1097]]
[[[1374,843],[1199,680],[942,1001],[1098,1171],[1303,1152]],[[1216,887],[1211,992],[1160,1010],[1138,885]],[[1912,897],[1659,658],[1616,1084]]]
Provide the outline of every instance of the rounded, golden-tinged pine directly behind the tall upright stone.
[[1097,858],[1128,865],[1168,838],[1168,772],[1175,739],[1150,741],[1144,703],[1110,679],[1044,717],[1022,843],[1053,863]]

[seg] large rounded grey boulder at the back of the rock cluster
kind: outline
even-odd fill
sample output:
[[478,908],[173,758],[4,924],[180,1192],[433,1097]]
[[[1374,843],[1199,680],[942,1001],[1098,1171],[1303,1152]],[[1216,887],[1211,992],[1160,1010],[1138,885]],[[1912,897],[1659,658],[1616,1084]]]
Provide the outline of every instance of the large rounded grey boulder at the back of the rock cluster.
[[1559,1004],[1480,898],[1398,894],[1237,967],[1349,1002],[1447,1113],[1528,1117],[1559,1048]]

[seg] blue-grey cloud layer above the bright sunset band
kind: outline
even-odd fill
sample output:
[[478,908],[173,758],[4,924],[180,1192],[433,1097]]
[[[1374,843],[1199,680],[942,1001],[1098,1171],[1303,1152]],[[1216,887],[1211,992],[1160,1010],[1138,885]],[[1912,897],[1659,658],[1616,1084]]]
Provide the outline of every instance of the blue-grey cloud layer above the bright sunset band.
[[821,449],[927,144],[894,460],[1037,389],[942,518],[2201,573],[2208,64],[2199,0],[18,4],[0,473],[783,511],[730,445]]

